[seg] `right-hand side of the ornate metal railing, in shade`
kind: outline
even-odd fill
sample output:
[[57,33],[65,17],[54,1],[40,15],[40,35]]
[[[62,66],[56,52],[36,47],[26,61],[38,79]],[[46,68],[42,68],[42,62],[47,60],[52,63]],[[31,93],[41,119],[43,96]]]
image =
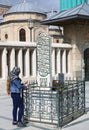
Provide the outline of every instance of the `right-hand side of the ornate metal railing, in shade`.
[[66,84],[64,90],[62,89],[58,91],[58,126],[60,127],[85,113],[85,83],[72,82]]

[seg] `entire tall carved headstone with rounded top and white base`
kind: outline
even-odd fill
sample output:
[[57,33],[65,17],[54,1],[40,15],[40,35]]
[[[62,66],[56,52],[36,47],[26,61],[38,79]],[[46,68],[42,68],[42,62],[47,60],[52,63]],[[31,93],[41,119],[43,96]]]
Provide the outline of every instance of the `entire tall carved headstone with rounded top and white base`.
[[37,37],[37,81],[42,87],[47,87],[52,82],[50,36],[44,32]]

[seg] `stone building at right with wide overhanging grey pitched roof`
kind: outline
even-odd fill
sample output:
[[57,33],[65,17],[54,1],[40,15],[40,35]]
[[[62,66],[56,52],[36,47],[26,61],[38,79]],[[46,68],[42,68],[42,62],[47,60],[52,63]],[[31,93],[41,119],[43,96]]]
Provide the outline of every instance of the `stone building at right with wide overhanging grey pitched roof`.
[[89,80],[89,4],[59,12],[42,23],[63,27],[64,42],[72,47],[72,76]]

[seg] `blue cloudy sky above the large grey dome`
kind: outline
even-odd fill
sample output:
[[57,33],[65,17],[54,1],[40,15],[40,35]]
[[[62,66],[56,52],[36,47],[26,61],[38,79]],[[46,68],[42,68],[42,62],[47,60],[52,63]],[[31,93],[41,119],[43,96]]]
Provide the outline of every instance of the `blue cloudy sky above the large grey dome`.
[[11,1],[13,4],[20,3],[22,1],[28,1],[37,4],[43,9],[58,11],[60,0],[6,0],[6,1]]

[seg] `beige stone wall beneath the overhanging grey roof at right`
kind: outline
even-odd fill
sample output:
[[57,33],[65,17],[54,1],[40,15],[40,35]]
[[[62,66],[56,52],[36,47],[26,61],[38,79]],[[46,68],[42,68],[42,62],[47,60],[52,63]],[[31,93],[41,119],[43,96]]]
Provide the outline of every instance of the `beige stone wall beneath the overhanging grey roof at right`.
[[89,24],[88,22],[70,24],[64,26],[64,29],[64,40],[72,45],[73,77],[81,78],[84,67],[84,50],[86,44],[89,43]]

